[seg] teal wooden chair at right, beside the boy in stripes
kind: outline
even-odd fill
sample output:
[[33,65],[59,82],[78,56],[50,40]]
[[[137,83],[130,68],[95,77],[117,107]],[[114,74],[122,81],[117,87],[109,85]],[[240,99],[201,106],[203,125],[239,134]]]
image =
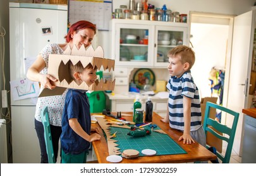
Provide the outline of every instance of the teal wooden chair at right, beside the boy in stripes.
[[[221,124],[214,119],[211,119],[209,116],[210,108],[219,109],[222,112],[226,112],[227,114],[230,114],[231,116],[233,116],[234,119],[233,119],[232,127],[229,128],[228,126]],[[207,137],[207,132],[209,132],[209,133],[212,133],[212,135],[216,136],[217,138],[221,139],[222,141],[224,140],[228,143],[226,148],[226,153],[224,153],[224,155],[219,153],[219,151],[216,151],[217,158],[219,158],[222,161],[222,163],[229,163],[233,142],[235,138],[235,133],[236,133],[236,126],[238,124],[238,117],[239,117],[239,113],[236,113],[235,111],[231,111],[226,107],[219,106],[212,102],[206,103],[205,117],[204,117],[205,136]],[[222,135],[219,135],[219,133],[217,133],[216,131],[222,133]],[[207,148],[212,148],[212,147],[207,145]]]

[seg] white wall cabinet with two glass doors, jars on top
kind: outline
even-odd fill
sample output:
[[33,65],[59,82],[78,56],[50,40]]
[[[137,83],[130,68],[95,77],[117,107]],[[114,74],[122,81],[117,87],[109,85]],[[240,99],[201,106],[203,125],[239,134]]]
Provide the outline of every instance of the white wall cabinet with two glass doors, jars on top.
[[187,23],[133,19],[112,19],[111,23],[116,66],[166,68],[168,51],[188,45]]

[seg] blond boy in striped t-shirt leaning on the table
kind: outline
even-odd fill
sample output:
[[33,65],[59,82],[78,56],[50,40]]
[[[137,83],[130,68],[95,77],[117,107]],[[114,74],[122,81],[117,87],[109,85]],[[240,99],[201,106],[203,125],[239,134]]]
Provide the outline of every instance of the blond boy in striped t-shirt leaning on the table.
[[195,63],[195,53],[192,48],[180,45],[170,50],[168,57],[171,75],[166,85],[169,90],[168,114],[161,121],[183,131],[179,141],[186,144],[197,141],[206,146],[198,88],[190,72]]

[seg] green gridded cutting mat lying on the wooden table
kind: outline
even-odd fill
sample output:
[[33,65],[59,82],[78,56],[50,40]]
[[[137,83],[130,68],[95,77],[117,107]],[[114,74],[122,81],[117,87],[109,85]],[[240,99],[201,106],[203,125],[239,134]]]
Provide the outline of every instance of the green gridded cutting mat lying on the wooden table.
[[[160,129],[159,127],[154,129]],[[120,148],[121,152],[127,149],[134,149],[140,151],[140,156],[144,156],[141,151],[144,149],[152,149],[157,153],[156,155],[176,155],[176,154],[184,154],[186,153],[180,145],[178,145],[173,139],[171,139],[168,135],[157,133],[152,131],[150,135],[142,136],[142,137],[132,137],[127,135],[130,129],[125,128],[116,128],[111,127],[111,134],[114,134],[116,131],[116,144],[118,148]]]

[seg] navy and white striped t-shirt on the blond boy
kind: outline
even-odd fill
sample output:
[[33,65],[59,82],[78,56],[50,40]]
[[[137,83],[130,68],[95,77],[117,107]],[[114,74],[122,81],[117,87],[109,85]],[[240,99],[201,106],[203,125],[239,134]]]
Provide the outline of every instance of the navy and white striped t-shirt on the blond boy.
[[183,96],[192,99],[190,131],[202,126],[202,114],[197,85],[193,82],[191,72],[185,72],[180,78],[169,79],[166,85],[169,90],[169,125],[171,128],[184,131]]

